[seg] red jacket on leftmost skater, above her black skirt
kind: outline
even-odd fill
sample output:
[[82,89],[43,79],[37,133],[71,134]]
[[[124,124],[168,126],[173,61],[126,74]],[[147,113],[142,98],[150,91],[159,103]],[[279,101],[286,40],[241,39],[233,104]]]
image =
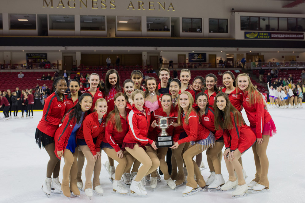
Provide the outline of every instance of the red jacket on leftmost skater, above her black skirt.
[[66,98],[64,96],[63,101],[60,100],[56,91],[48,96],[44,103],[42,118],[37,126],[38,130],[50,137],[54,137],[56,129],[61,124],[65,109]]

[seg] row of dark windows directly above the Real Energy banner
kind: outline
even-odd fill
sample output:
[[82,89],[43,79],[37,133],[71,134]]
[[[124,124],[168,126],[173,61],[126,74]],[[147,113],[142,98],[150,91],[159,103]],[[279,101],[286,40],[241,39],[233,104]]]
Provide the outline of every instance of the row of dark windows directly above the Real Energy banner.
[[305,18],[241,16],[241,30],[305,31]]

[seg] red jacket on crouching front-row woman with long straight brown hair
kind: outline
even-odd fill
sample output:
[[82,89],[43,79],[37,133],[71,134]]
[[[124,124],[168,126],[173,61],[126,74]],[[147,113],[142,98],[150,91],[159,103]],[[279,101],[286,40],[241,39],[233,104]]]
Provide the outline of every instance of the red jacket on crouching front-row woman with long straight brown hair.
[[246,124],[238,126],[238,120],[231,112],[232,129],[225,129],[223,134],[223,141],[226,149],[230,148],[231,151],[238,149],[243,153],[249,149],[256,141],[256,136],[252,129]]

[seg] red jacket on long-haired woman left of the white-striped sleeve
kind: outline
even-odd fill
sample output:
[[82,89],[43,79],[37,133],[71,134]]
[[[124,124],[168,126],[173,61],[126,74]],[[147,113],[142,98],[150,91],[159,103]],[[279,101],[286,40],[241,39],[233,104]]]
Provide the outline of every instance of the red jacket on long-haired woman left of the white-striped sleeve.
[[[131,109],[126,108],[127,115],[130,111],[131,111]],[[121,150],[120,146],[122,146],[123,140],[124,140],[127,132],[129,131],[129,126],[128,126],[127,120],[125,120],[120,115],[122,131],[118,132],[116,129],[114,114],[109,115],[109,116],[111,116],[111,118],[109,118],[109,120],[106,124],[105,136],[103,138],[103,142],[109,143],[109,145],[112,146],[116,150],[116,152],[118,152]],[[127,118],[127,116],[126,116],[126,118]]]

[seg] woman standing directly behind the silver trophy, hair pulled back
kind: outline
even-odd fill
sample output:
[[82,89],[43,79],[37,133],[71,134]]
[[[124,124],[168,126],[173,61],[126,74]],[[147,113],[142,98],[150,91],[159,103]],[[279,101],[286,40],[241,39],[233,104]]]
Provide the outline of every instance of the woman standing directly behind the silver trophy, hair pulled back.
[[[171,123],[175,123],[177,120],[177,116],[178,116],[178,112],[174,110],[173,106],[172,106],[172,97],[170,94],[163,94],[161,97],[161,105],[162,107],[153,111],[151,113],[151,127],[149,129],[149,135],[148,138],[154,140],[154,141],[159,141],[162,140],[162,137],[157,135],[161,134],[161,127],[156,127],[157,125],[159,126],[160,123],[162,122],[156,122],[156,120],[164,120],[167,121],[166,122],[166,132],[167,132],[167,136],[170,136],[170,145],[172,146],[172,143],[175,144],[178,139],[179,139],[179,135],[180,135],[180,129],[179,127],[174,127],[174,125],[172,125]],[[170,123],[170,124],[169,124]],[[168,140],[167,140],[168,141]],[[173,141],[173,142],[172,142]],[[164,143],[164,142],[163,142]],[[164,143],[165,145],[168,145],[168,143]],[[170,178],[170,174],[168,172],[168,166],[166,164],[165,161],[165,156],[168,150],[168,146],[161,146],[161,142],[159,145],[159,148],[157,150],[154,150],[151,148],[151,146],[146,146],[147,152],[153,152],[155,154],[155,156],[158,157],[159,161],[160,161],[160,169],[164,174],[164,180],[166,180],[166,184],[168,186],[170,186],[171,189],[175,189],[176,188],[176,184],[173,182],[173,179]],[[157,171],[154,171],[151,173],[151,188],[156,188],[157,186]]]

